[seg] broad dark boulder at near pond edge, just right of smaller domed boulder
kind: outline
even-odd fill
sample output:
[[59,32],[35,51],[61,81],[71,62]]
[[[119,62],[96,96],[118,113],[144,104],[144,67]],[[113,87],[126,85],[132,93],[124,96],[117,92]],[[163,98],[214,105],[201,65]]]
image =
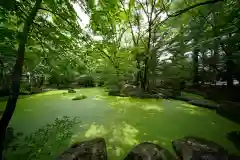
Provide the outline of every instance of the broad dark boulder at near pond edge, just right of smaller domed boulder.
[[181,160],[227,160],[228,153],[220,145],[198,137],[185,137],[172,142]]

